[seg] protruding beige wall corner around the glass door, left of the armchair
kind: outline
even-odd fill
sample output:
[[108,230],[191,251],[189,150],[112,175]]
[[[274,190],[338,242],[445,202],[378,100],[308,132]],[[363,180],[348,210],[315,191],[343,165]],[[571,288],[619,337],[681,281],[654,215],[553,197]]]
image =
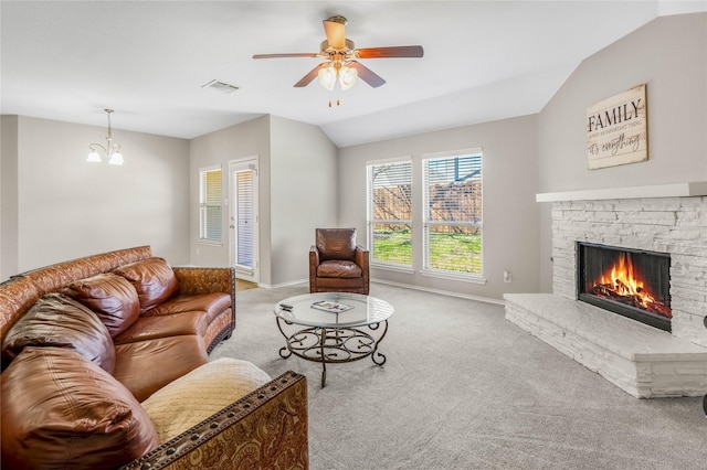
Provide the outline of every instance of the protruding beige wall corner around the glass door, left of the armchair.
[[306,281],[314,227],[336,221],[336,147],[324,132],[313,125],[264,116],[192,139],[190,154],[191,263],[230,263],[228,216],[222,245],[199,243],[199,168],[221,164],[228,188],[228,162],[257,156],[258,284]]

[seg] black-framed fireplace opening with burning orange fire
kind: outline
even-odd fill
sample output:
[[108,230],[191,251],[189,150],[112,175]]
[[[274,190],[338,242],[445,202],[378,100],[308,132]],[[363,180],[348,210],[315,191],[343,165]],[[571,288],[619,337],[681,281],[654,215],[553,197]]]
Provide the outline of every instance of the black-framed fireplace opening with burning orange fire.
[[578,244],[578,298],[671,331],[671,256]]

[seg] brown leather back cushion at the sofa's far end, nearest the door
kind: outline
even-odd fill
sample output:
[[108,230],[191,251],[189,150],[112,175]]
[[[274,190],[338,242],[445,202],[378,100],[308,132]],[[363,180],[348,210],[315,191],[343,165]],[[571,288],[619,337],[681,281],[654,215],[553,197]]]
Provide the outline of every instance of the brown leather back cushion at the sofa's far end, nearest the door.
[[140,313],[162,303],[179,290],[175,271],[163,258],[151,257],[130,263],[113,273],[133,284],[140,301]]

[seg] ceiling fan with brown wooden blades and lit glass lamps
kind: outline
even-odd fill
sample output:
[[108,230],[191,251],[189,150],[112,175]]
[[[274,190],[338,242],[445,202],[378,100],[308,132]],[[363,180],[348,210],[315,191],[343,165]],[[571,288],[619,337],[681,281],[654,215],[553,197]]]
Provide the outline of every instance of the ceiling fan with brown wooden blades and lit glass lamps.
[[253,58],[325,58],[325,62],[302,77],[295,84],[295,87],[307,86],[315,77],[318,77],[321,86],[331,90],[337,81],[341,89],[350,88],[356,83],[357,77],[360,77],[373,88],[386,83],[382,77],[358,62],[359,58],[422,57],[423,55],[421,45],[356,49],[354,41],[346,38],[346,18],[340,15],[324,20],[324,32],[327,39],[321,42],[320,51],[317,53],[256,54],[253,55]]

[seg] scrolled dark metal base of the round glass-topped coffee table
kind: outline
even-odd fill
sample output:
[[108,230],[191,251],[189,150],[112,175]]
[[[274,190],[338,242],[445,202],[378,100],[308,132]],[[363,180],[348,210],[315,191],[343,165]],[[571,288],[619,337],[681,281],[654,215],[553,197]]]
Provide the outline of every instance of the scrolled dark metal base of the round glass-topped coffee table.
[[[279,356],[287,359],[294,354],[307,361],[321,363],[321,388],[327,382],[327,364],[354,362],[368,356],[371,356],[377,365],[386,363],[386,355],[378,351],[378,345],[388,332],[388,320],[359,328],[312,327],[292,334],[283,330],[282,323],[293,323],[281,318],[276,318],[276,321],[286,342],[286,345],[279,349]],[[379,338],[376,339],[373,334],[363,331],[363,328],[368,328],[371,333],[379,333]]]

